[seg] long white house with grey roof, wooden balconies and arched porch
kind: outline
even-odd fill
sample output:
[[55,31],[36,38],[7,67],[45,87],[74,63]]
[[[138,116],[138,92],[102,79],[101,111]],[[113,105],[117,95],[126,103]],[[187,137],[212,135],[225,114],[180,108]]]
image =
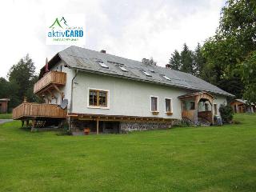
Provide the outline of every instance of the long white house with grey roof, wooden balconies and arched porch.
[[[53,114],[17,114],[17,109],[15,119],[67,118],[72,129],[96,132],[160,129],[182,118],[212,123],[219,106],[233,96],[192,74],[151,66],[147,59],[138,62],[77,46],[42,67],[34,93],[47,103],[37,107],[49,107]],[[58,107],[63,100],[65,110]]]

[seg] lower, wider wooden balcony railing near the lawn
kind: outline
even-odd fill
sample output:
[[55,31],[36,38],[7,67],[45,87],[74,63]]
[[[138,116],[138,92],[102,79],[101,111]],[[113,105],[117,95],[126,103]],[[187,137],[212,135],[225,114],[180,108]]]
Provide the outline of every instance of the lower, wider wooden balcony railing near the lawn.
[[66,118],[66,110],[54,104],[23,102],[13,110],[13,119]]

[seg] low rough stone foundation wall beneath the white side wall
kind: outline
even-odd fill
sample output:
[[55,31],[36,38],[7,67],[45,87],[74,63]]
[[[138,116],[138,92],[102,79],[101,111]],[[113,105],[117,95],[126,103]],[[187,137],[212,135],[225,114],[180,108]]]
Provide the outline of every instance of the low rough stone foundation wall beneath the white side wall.
[[171,127],[171,122],[120,122],[121,133],[134,130],[164,130]]

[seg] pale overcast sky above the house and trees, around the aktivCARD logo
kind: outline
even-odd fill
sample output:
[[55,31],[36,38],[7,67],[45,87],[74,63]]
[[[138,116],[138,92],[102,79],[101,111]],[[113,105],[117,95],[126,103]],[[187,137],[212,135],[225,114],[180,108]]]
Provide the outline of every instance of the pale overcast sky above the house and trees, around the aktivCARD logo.
[[46,46],[47,14],[85,14],[86,44],[141,61],[153,57],[165,66],[184,42],[194,49],[214,34],[225,0],[4,0],[0,6],[0,77],[27,53],[37,72],[67,46]]

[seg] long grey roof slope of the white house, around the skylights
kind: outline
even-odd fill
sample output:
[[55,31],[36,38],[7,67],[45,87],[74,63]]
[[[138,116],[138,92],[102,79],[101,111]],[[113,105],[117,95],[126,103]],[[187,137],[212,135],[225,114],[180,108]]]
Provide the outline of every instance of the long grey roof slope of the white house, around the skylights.
[[[71,68],[86,70],[88,72],[130,78],[143,82],[153,82],[166,86],[176,86],[190,90],[207,91],[214,94],[234,96],[224,90],[219,89],[192,74],[187,74],[177,70],[170,70],[161,66],[150,66],[142,62],[128,58],[121,58],[111,54],[104,54],[94,50],[87,50],[78,46],[70,46],[66,50],[58,53],[62,61],[66,62]],[[97,60],[104,62],[109,68],[100,66]],[[125,66],[128,72],[122,71],[118,66]],[[142,72],[146,71],[151,77]],[[154,71],[154,72],[152,72]],[[163,76],[170,78],[167,80]]]

